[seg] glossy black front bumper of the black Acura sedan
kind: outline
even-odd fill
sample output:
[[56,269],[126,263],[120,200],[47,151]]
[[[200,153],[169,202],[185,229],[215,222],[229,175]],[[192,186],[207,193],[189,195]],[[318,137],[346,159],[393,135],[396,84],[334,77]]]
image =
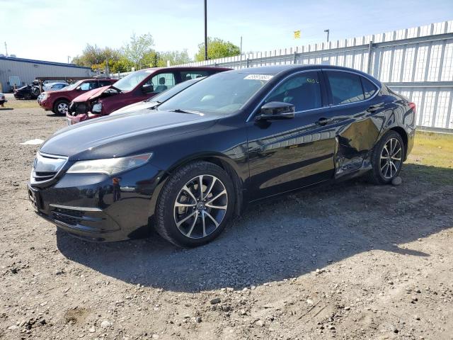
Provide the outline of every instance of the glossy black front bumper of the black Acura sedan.
[[89,241],[113,242],[149,234],[159,176],[158,169],[145,164],[113,177],[64,174],[49,186],[28,183],[27,190],[38,215],[60,229]]

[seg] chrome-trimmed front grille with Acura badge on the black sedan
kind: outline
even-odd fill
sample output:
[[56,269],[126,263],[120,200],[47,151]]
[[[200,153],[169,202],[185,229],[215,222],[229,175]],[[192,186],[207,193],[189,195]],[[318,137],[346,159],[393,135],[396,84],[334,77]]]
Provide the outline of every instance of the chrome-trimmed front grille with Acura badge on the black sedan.
[[31,183],[42,183],[54,179],[67,162],[67,157],[38,152],[30,175]]

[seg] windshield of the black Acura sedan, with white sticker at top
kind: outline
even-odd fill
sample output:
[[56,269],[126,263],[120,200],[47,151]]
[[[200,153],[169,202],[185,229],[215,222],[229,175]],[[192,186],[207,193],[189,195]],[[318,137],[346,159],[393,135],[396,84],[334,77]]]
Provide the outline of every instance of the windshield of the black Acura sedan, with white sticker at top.
[[168,99],[159,110],[234,113],[271,78],[266,74],[217,73]]

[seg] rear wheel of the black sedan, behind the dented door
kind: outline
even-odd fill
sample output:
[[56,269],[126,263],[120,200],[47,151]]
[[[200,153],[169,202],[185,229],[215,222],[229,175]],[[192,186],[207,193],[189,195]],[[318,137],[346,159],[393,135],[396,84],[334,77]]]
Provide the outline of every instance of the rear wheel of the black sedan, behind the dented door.
[[386,132],[374,147],[372,154],[373,169],[368,179],[374,184],[389,184],[399,175],[406,156],[406,147],[401,135],[396,131]]

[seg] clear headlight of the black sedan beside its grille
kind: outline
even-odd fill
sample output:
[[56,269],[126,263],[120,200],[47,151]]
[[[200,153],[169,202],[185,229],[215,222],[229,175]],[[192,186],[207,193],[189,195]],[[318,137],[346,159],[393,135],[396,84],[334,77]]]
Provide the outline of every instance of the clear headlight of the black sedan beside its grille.
[[79,161],[74,163],[69,170],[68,174],[108,174],[113,175],[118,172],[137,168],[142,166],[151,159],[150,154],[139,154],[131,157],[120,158],[107,158],[107,159],[93,159],[90,161]]

